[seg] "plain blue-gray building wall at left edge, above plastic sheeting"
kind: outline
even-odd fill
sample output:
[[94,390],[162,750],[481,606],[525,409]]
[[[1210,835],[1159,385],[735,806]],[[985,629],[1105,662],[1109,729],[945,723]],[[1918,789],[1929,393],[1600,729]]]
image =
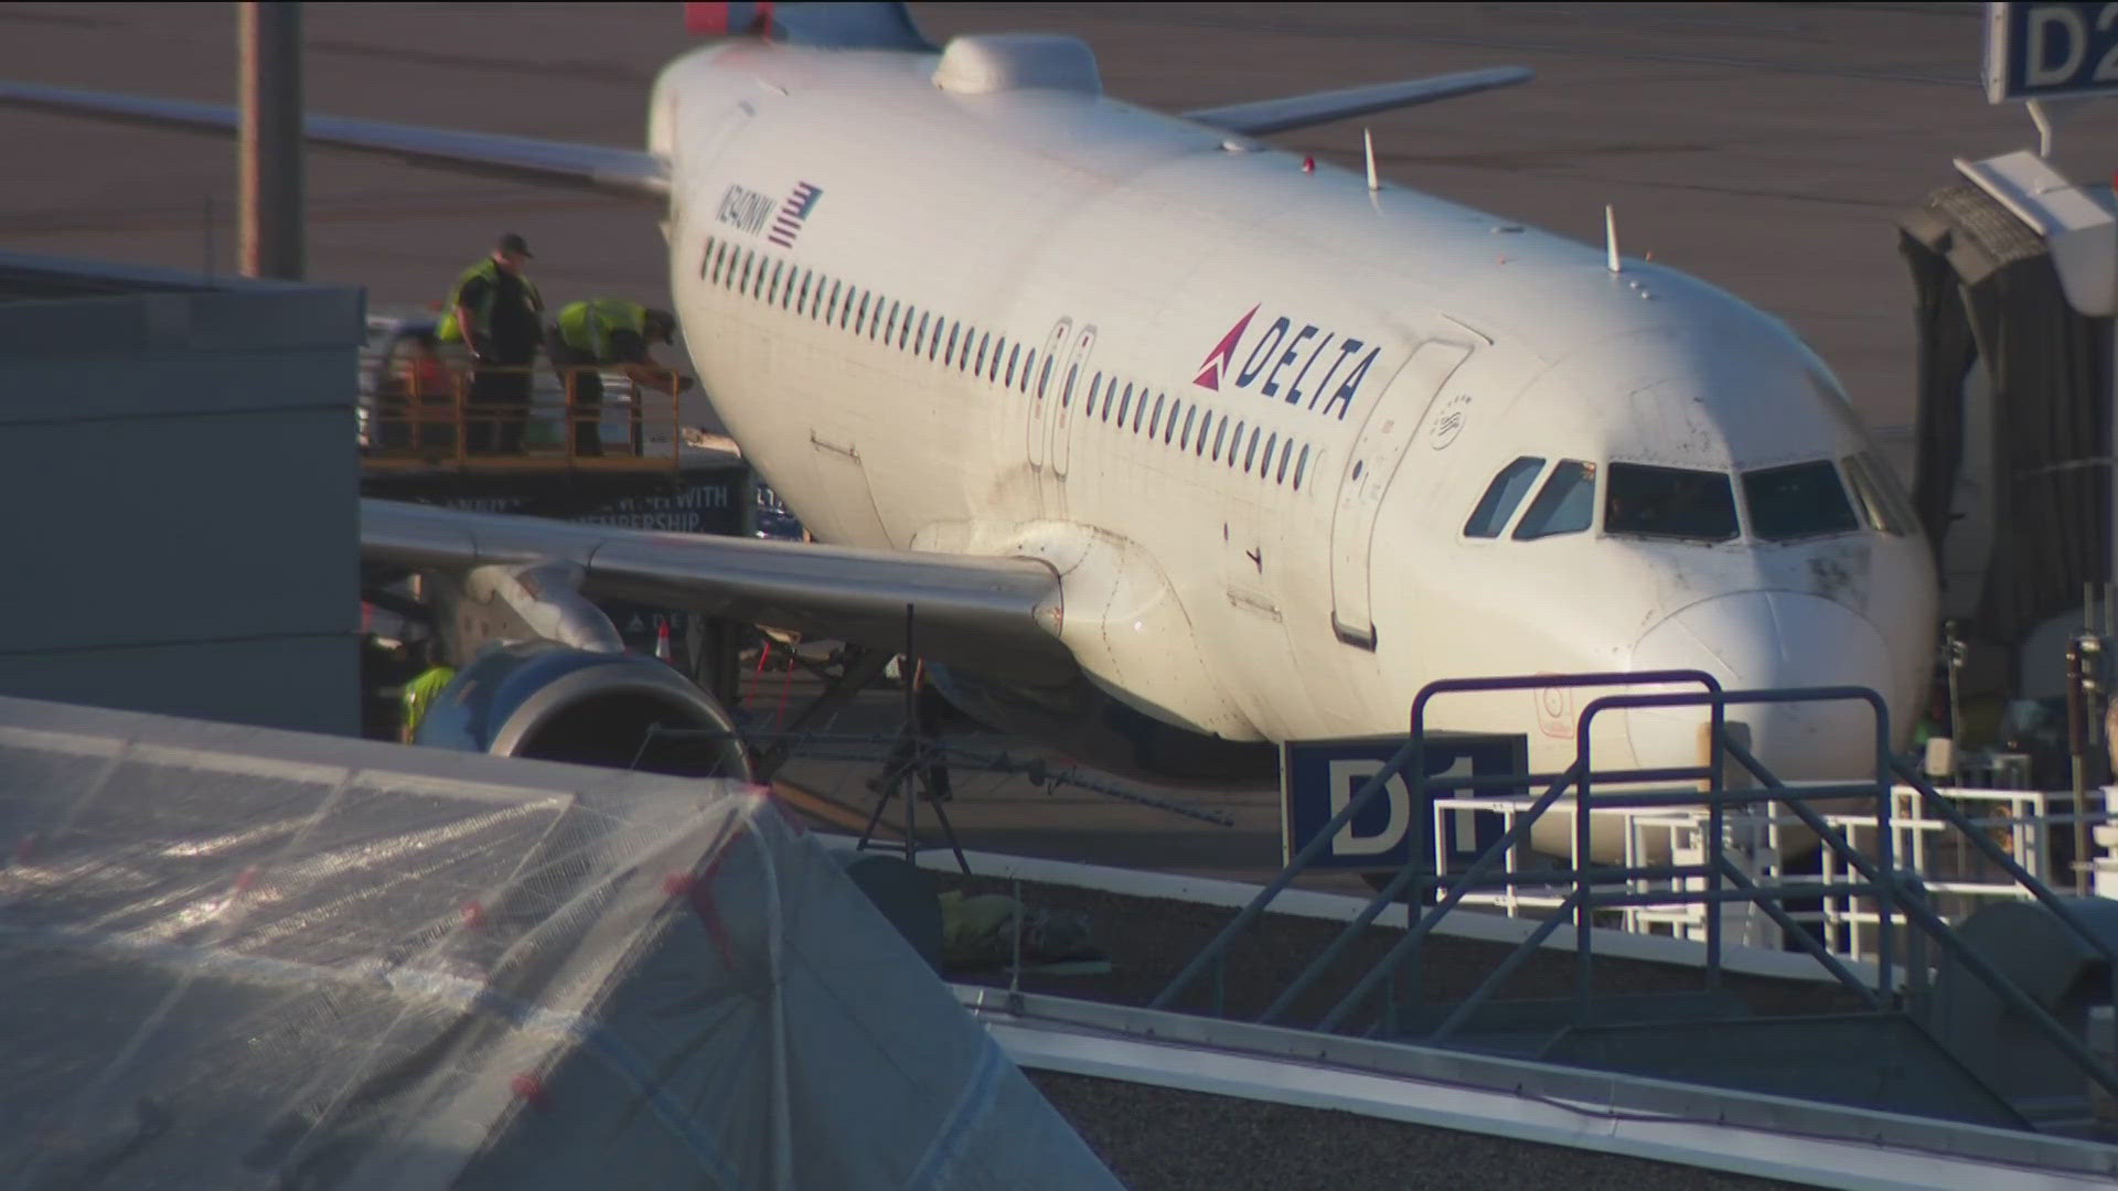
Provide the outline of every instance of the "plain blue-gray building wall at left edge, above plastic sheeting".
[[362,295],[199,286],[0,301],[0,693],[358,731]]

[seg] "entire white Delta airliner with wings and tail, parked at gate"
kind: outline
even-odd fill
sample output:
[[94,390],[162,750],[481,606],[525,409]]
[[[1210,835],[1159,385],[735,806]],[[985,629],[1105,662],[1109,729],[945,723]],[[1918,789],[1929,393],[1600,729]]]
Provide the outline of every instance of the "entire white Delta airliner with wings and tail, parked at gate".
[[[968,712],[1163,780],[1402,733],[1451,676],[1860,685],[1910,727],[1927,543],[1792,331],[1614,244],[1256,140],[1527,72],[1169,117],[1108,97],[1074,38],[936,49],[898,4],[695,8],[748,34],[661,72],[646,150],[309,117],[328,146],[652,201],[714,409],[828,543],[366,500],[371,562],[453,576],[460,648],[616,651],[582,596],[883,648],[911,608]],[[1557,771],[1586,697],[1442,699],[1432,723],[1525,733]],[[1783,778],[1872,771],[1857,708],[1733,718]],[[1699,763],[1697,712],[1599,723],[1599,765]]]

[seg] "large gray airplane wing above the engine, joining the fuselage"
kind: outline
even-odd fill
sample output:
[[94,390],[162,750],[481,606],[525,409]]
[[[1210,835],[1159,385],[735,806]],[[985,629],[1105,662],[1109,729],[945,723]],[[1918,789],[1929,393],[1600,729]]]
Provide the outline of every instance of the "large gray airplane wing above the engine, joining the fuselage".
[[366,498],[364,559],[411,570],[572,562],[591,598],[638,600],[904,648],[993,678],[1063,678],[1059,576],[1025,557],[868,551],[580,526]]

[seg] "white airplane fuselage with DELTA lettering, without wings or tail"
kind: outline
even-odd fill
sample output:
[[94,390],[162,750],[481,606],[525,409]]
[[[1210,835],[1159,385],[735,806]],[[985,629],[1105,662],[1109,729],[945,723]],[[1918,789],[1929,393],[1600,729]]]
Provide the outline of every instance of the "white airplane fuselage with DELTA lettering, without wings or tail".
[[[1533,500],[1466,532],[1516,458],[1533,494],[1563,460],[1595,483],[1870,451],[1777,320],[1103,95],[932,70],[726,45],[657,87],[693,360],[820,538],[1044,557],[1099,687],[1228,740],[1404,731],[1444,676],[1667,665],[1874,687],[1906,727],[1936,602],[1917,530],[1766,540],[1737,481],[1718,543],[1614,532],[1595,496],[1580,532],[1519,536]],[[1432,723],[1525,731],[1557,769],[1588,697]],[[1872,759],[1857,708],[1733,716],[1794,778]],[[1597,761],[1694,763],[1697,723],[1608,716]]]

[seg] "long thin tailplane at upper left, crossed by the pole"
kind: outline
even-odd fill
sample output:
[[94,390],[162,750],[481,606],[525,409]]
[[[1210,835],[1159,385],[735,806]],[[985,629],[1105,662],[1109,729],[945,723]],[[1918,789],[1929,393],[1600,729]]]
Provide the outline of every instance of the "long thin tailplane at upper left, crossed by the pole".
[[[0,104],[191,131],[233,134],[237,127],[237,110],[222,104],[155,100],[116,91],[70,91],[36,83],[0,81]],[[646,199],[669,195],[667,165],[652,153],[638,148],[347,121],[324,114],[309,114],[303,121],[303,131],[316,144],[377,153],[415,165],[443,165],[455,172],[557,182]]]

